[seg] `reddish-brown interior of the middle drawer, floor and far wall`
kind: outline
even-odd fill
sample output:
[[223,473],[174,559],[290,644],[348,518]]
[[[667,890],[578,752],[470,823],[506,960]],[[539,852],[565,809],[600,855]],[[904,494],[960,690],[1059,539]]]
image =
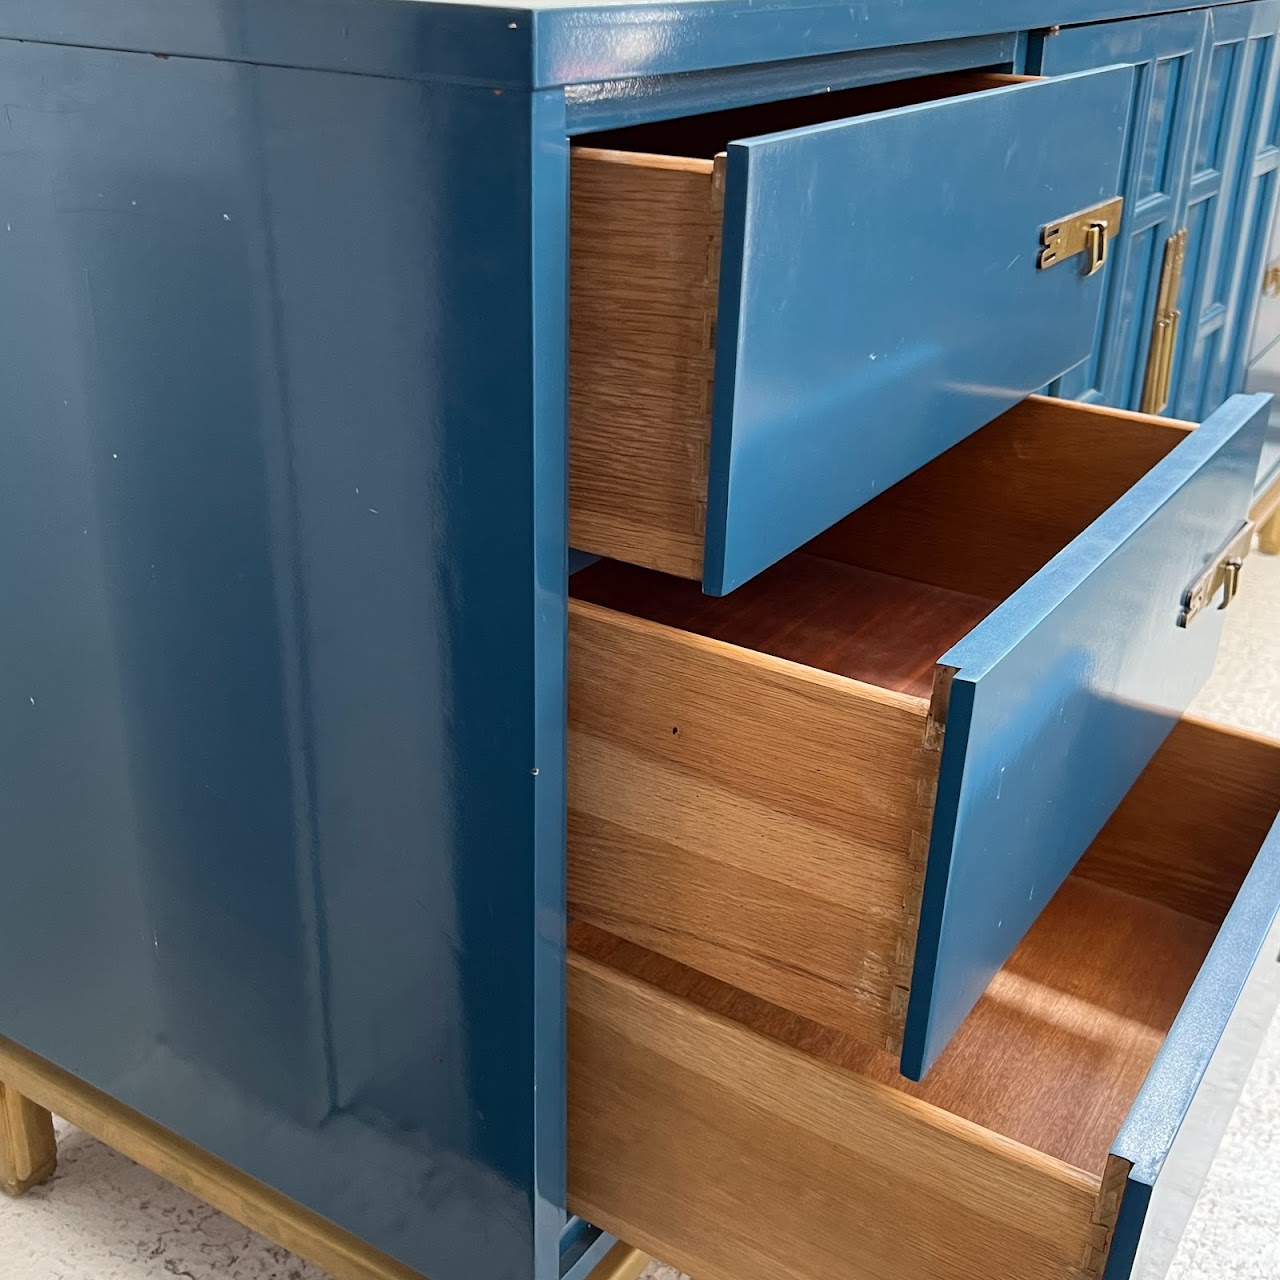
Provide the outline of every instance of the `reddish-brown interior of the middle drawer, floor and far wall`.
[[1187,430],[1033,397],[727,596],[604,562],[571,591],[928,703],[938,658]]

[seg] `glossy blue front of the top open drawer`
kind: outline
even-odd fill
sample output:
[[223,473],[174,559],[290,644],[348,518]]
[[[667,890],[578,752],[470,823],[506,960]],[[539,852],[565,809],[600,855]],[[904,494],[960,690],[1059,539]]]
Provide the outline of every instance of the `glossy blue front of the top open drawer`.
[[[709,593],[1088,355],[1101,276],[1083,259],[1038,270],[1039,233],[1116,195],[1132,76],[1006,86],[730,145]],[[1087,143],[1061,145],[1065,118]]]

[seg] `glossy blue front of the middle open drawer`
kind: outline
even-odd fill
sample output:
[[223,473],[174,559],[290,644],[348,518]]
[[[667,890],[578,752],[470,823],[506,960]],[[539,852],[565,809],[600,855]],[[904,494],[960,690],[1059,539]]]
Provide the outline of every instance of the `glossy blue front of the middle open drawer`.
[[1213,666],[1183,590],[1249,507],[1270,397],[1229,401],[940,659],[955,671],[902,1073],[919,1079]]

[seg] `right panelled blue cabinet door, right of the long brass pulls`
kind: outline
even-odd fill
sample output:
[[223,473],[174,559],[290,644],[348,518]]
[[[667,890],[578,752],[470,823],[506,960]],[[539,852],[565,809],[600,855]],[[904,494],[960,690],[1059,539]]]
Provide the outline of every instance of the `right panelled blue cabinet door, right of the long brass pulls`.
[[[1254,178],[1253,164],[1271,105],[1276,70],[1280,3],[1225,5],[1210,10],[1210,41],[1192,168],[1180,221],[1188,229],[1187,264],[1179,306],[1183,324],[1174,362],[1169,412],[1199,421],[1228,394],[1248,342],[1242,291],[1249,275],[1256,297],[1254,246],[1266,236],[1254,206],[1270,196],[1270,180]],[[1258,189],[1262,182],[1263,189]],[[1242,312],[1244,312],[1242,315]]]

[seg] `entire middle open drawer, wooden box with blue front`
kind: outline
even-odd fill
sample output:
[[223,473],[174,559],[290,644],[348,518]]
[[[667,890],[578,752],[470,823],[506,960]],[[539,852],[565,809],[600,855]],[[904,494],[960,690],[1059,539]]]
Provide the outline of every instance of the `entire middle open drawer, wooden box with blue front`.
[[731,596],[575,575],[573,915],[919,1079],[1212,669],[1268,403],[1033,398]]

